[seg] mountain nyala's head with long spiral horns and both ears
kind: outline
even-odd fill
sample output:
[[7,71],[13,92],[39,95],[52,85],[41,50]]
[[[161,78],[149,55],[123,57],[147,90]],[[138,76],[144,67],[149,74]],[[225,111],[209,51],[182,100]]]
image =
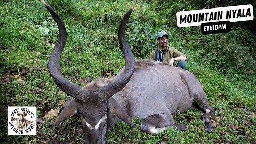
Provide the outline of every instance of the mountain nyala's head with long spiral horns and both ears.
[[[66,28],[52,7],[44,0],[42,0],[42,2],[51,13],[59,28],[58,41],[55,43],[55,47],[49,59],[50,75],[62,91],[74,98],[68,106],[61,111],[52,127],[59,125],[61,122],[76,114],[80,114],[83,130],[86,135],[85,143],[105,143],[108,110],[113,113],[113,115],[122,119],[122,121],[133,125],[125,110],[120,108],[114,98],[111,97],[123,89],[134,72],[135,60],[125,37],[125,26],[135,5],[124,15],[118,31],[118,40],[125,59],[123,75],[119,78],[114,78],[113,81],[108,81],[108,83],[103,86],[89,84],[85,87],[81,87],[69,82],[61,75],[60,57],[67,40]],[[114,110],[114,108],[118,110]]]

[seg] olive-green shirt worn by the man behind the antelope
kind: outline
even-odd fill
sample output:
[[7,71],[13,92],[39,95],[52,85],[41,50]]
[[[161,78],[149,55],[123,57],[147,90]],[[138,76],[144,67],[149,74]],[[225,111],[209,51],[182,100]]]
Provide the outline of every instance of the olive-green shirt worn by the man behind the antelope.
[[[171,58],[177,58],[181,55],[183,55],[184,57],[186,57],[188,59],[188,56],[180,51],[178,51],[177,49],[175,49],[174,47],[170,47],[167,46],[166,48],[166,52],[163,53],[163,62],[169,62],[171,60]],[[158,52],[162,52],[159,47],[158,47]],[[149,55],[149,59],[152,60],[156,60],[156,50],[153,50],[150,55]]]

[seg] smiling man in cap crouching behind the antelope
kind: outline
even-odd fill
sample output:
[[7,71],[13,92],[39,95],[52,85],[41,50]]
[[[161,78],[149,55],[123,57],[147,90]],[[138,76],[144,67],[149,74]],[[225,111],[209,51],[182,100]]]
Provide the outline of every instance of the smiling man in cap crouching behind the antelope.
[[[177,65],[175,66],[186,70],[186,61],[188,56],[178,51],[174,47],[168,46],[168,37],[169,35],[165,31],[161,31],[158,34],[157,43],[160,61],[167,62],[171,66],[175,65],[174,61],[178,61]],[[153,50],[150,53],[149,59],[156,60],[156,50]]]

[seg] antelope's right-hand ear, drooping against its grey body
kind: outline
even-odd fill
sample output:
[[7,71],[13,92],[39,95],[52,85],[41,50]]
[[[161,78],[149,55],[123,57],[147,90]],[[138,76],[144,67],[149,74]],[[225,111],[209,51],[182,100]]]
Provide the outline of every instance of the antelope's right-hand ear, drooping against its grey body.
[[114,98],[108,99],[110,112],[127,124],[135,126],[126,111],[116,102]]

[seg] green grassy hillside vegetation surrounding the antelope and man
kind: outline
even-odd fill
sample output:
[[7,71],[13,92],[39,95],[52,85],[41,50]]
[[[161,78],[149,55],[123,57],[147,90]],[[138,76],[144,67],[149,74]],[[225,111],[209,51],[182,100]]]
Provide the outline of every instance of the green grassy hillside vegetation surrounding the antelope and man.
[[[50,0],[49,0],[50,1]],[[158,135],[118,123],[107,143],[255,143],[256,36],[253,21],[235,22],[230,33],[202,35],[199,27],[178,28],[177,11],[252,4],[250,1],[138,1],[126,28],[135,58],[147,59],[155,48],[154,32],[171,34],[170,45],[189,57],[188,70],[201,82],[216,114],[214,129],[205,131],[202,111],[174,116],[187,131],[169,129]],[[97,77],[113,77],[124,66],[118,45],[119,21],[133,1],[50,1],[67,27],[61,59],[65,78],[81,86]],[[82,143],[79,116],[49,129],[55,117],[37,123],[37,135],[7,135],[7,106],[37,106],[37,118],[62,106],[69,96],[47,70],[58,28],[40,1],[0,1],[0,141],[2,143]],[[255,29],[254,29],[255,30]]]

